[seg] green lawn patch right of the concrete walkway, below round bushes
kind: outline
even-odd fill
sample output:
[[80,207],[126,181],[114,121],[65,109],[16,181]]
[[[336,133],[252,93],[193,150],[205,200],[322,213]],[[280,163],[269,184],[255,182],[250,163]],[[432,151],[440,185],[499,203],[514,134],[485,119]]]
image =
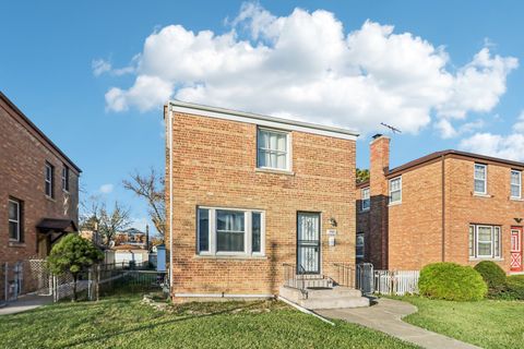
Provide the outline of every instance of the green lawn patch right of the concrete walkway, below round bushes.
[[404,321],[483,348],[524,348],[524,302],[450,302],[404,297],[418,312]]

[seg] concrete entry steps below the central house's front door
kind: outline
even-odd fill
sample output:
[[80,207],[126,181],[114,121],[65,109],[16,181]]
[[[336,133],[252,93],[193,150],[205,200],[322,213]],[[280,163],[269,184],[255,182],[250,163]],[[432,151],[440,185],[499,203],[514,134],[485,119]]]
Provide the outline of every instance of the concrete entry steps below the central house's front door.
[[282,286],[279,297],[309,310],[369,306],[369,299],[354,288],[335,286],[306,290]]

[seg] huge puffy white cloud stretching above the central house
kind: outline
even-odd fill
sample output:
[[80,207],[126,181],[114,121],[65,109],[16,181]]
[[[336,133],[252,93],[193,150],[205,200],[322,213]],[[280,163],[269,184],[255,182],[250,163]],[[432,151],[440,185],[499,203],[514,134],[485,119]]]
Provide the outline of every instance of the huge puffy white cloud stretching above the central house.
[[498,104],[517,65],[483,48],[453,72],[442,47],[371,21],[345,34],[323,10],[277,17],[245,3],[228,23],[224,34],[181,25],[154,32],[133,58],[133,86],[110,88],[107,109],[148,110],[174,97],[364,132],[386,122],[408,133],[434,115],[451,136],[454,119]]

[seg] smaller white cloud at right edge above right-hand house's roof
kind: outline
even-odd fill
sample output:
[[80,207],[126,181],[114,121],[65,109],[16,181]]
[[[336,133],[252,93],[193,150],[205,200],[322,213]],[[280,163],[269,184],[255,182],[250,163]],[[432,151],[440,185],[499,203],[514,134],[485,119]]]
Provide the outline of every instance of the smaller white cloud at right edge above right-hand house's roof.
[[524,111],[517,117],[510,134],[476,133],[462,140],[458,147],[473,153],[524,161]]

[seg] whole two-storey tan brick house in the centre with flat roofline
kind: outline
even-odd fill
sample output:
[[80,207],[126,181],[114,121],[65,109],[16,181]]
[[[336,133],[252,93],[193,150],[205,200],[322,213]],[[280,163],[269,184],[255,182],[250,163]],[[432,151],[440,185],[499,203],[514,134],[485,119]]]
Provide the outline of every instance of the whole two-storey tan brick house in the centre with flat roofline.
[[276,294],[297,260],[335,278],[355,264],[355,133],[179,101],[165,120],[175,300]]

